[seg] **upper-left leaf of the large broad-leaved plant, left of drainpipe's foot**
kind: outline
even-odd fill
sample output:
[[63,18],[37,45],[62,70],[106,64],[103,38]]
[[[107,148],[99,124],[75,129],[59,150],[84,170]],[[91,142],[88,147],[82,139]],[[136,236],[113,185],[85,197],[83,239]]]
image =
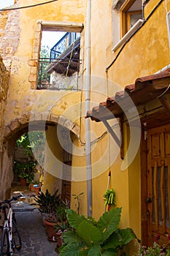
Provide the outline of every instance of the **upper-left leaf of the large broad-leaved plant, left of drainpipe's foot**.
[[75,211],[72,209],[67,209],[66,210],[66,216],[69,222],[69,225],[74,227],[77,230],[77,227],[79,227],[80,223],[85,220],[85,217],[82,216],[81,214],[77,214]]

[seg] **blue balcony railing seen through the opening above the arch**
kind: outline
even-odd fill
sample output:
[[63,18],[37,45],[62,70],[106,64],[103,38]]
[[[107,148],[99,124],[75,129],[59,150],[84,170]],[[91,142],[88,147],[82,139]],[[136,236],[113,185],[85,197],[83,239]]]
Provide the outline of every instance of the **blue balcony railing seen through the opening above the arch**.
[[67,32],[50,50],[50,61],[57,59],[70,45],[72,45],[78,38],[80,33]]

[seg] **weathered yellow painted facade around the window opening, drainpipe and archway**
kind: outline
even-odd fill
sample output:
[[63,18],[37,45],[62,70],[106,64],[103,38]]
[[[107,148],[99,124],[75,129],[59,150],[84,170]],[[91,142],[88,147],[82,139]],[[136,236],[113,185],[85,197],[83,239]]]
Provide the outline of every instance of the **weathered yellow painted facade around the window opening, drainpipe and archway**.
[[[139,31],[125,43],[123,50],[118,48],[112,52],[113,27],[117,26],[113,19],[113,8],[115,1],[91,1],[90,20],[90,108],[106,101],[117,91],[135,82],[136,78],[144,75],[152,75],[159,69],[166,67],[170,62],[169,38],[166,26],[166,9],[170,10],[170,1],[161,2],[158,8],[150,15],[158,4],[157,0],[150,0],[144,7],[144,18],[150,18],[144,23]],[[17,1],[16,7],[26,4],[38,4],[39,1]],[[14,14],[12,14],[14,12]],[[4,12],[5,13],[5,12]],[[20,131],[24,132],[29,121],[23,121],[26,113],[34,113],[39,116],[36,121],[47,120],[47,115],[53,115],[51,123],[54,126],[47,128],[47,151],[45,155],[45,179],[44,187],[50,192],[54,189],[62,190],[61,176],[63,175],[62,146],[60,140],[55,138],[57,127],[65,127],[72,132],[72,194],[84,192],[80,202],[81,214],[87,214],[87,182],[86,182],[86,155],[85,155],[85,91],[52,91],[36,90],[34,87],[36,77],[36,65],[32,65],[36,53],[39,52],[39,24],[51,22],[66,22],[82,24],[81,33],[81,65],[80,76],[86,75],[87,56],[87,1],[83,0],[58,0],[39,7],[8,11],[11,18],[15,18],[13,31],[17,36],[12,45],[5,45],[5,33],[1,36],[4,49],[1,56],[4,64],[10,72],[9,91],[7,98],[5,128],[6,137],[16,140]],[[14,15],[14,16],[12,16]],[[6,21],[11,22],[11,20]],[[1,29],[5,29],[5,25]],[[43,25],[42,25],[43,26]],[[76,25],[75,25],[76,26]],[[40,26],[41,27],[41,26]],[[57,26],[56,26],[57,28]],[[117,26],[119,30],[119,26]],[[38,36],[38,39],[36,38]],[[9,50],[9,53],[7,53]],[[109,67],[112,61],[115,62]],[[106,72],[107,69],[107,72]],[[81,88],[85,89],[82,81]],[[43,113],[44,117],[41,116]],[[62,121],[62,117],[65,118]],[[56,121],[55,121],[56,118]],[[59,119],[58,119],[59,118]],[[61,119],[60,119],[61,118]],[[17,121],[19,123],[14,126]],[[68,123],[67,123],[68,122]],[[119,121],[115,118],[109,121],[114,126],[118,137],[120,135]],[[74,127],[74,124],[77,127]],[[131,132],[127,124],[123,124],[124,151],[127,151],[131,140]],[[8,130],[9,129],[9,130]],[[109,188],[116,191],[117,207],[122,207],[121,227],[132,227],[136,236],[141,238],[141,159],[140,148],[136,148],[134,160],[121,170],[125,160],[120,158],[120,148],[115,140],[106,131],[102,122],[90,121],[91,137],[91,162],[92,162],[92,212],[93,217],[98,219],[104,212],[104,192],[107,190],[108,173],[111,170]],[[54,139],[55,138],[55,139]],[[8,145],[8,144],[7,144]],[[53,157],[51,157],[53,152]],[[7,152],[4,153],[7,156]],[[57,159],[57,163],[56,163]],[[12,155],[8,157],[12,161]],[[128,160],[127,160],[128,161]],[[12,166],[10,165],[10,168]],[[60,171],[59,171],[60,173]],[[51,174],[51,175],[50,175]],[[58,179],[59,176],[59,179]],[[56,178],[57,177],[57,178]],[[12,179],[5,180],[7,188],[10,187]],[[4,188],[3,188],[4,189]],[[1,195],[3,194],[1,189]],[[71,207],[76,208],[76,202],[71,196]]]

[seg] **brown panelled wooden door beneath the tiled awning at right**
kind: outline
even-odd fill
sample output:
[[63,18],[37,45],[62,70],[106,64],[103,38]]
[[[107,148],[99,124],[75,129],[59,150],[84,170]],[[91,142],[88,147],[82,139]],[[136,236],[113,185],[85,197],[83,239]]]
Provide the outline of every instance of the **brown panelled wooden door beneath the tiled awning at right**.
[[152,245],[158,234],[167,244],[170,233],[170,124],[147,132],[147,238]]

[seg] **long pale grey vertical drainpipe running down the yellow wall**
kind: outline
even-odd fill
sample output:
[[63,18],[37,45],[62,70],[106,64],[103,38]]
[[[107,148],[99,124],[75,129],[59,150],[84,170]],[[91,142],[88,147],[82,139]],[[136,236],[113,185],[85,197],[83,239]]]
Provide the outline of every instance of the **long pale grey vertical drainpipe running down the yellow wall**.
[[[85,114],[90,109],[90,20],[91,20],[91,1],[88,0],[87,23],[86,23]],[[91,167],[91,146],[90,146],[90,118],[85,119],[85,129],[86,129],[85,151],[86,151],[88,216],[92,216],[92,167]]]

